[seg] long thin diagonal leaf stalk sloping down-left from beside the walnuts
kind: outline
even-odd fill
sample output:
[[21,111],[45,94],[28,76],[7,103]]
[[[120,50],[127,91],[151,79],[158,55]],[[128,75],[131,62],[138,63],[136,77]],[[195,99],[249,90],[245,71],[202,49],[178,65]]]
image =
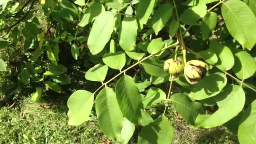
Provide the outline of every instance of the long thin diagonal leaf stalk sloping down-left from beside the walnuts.
[[[168,45],[168,46],[165,46],[161,51],[165,51],[166,49],[168,48],[173,48],[175,46],[179,45],[179,41],[177,41],[176,43],[173,43],[172,45]],[[146,59],[149,59],[150,57],[152,56],[155,56],[157,55],[158,53],[156,54],[150,54],[149,56],[139,60],[138,62],[136,62],[135,64],[133,64],[131,67],[128,67],[127,69],[121,71],[119,74],[117,74],[115,77],[112,77],[110,80],[108,80],[106,83],[103,83],[96,91],[94,91],[94,94],[99,91],[102,87],[104,87],[104,85],[107,85],[108,83],[110,83],[112,80],[114,80],[115,78],[117,78],[118,76],[122,75],[123,73],[125,73],[126,71],[128,71],[129,69],[135,67],[136,65],[140,64],[141,62],[145,61]]]

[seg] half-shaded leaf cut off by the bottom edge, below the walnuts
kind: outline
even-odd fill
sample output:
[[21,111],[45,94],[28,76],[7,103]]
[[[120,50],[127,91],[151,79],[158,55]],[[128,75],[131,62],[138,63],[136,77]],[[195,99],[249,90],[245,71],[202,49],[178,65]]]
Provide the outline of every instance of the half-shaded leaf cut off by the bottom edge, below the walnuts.
[[173,137],[174,128],[163,116],[141,129],[138,144],[171,144]]

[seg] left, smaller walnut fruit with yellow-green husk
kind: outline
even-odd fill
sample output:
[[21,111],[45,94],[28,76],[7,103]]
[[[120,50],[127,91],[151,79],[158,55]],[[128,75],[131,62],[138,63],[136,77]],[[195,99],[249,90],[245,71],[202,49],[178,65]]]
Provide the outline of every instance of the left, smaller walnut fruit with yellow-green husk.
[[178,76],[184,71],[184,62],[181,58],[168,59],[164,64],[164,71],[169,72],[169,74]]

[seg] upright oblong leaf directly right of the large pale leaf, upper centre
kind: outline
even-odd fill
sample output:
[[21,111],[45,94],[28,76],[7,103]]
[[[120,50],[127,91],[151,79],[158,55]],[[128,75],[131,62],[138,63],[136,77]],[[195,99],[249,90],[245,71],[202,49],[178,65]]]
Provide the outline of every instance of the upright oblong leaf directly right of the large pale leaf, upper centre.
[[132,51],[137,40],[138,24],[136,18],[125,16],[119,29],[119,44],[125,51]]

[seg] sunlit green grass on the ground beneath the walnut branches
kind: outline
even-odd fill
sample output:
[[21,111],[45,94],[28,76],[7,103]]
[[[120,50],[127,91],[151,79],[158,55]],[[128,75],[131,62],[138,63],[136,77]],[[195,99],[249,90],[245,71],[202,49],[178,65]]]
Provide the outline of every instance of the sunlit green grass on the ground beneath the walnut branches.
[[[110,141],[100,131],[96,117],[92,115],[88,122],[80,126],[67,124],[66,100],[58,100],[52,108],[40,107],[50,101],[35,102],[29,98],[20,101],[15,108],[0,109],[0,143],[3,144],[99,144]],[[156,118],[163,112],[164,105],[158,104],[150,113]],[[184,120],[175,116],[169,106],[166,113],[175,127],[174,144],[236,144],[237,137],[224,127],[195,130]],[[130,144],[136,144],[139,129]],[[110,141],[116,144],[117,142]]]

